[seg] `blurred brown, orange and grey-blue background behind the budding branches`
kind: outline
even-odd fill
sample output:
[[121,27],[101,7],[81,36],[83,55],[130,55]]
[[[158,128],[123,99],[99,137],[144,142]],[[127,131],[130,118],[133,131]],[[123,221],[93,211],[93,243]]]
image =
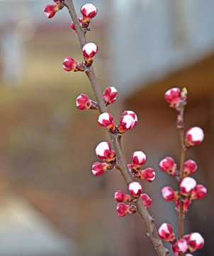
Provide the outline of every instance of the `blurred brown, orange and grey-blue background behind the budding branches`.
[[[74,1],[77,14],[85,1]],[[115,169],[95,177],[94,149],[108,141],[98,113],[77,110],[76,98],[94,95],[84,73],[67,73],[62,62],[81,62],[77,35],[66,8],[43,14],[52,0],[1,0],[0,9],[0,255],[156,255],[145,225],[135,215],[119,218],[114,192],[127,193]],[[193,201],[184,233],[199,232],[213,255],[214,198],[214,2],[213,0],[91,0],[98,8],[87,41],[99,50],[94,68],[101,90],[115,86],[108,107],[116,124],[124,110],[139,123],[123,135],[125,156],[147,154],[145,168],[157,178],[142,182],[152,197],[150,214],[177,232],[173,202],[160,196],[176,189],[159,170],[165,156],[179,163],[176,112],[164,101],[170,87],[186,87],[186,129],[200,126],[205,139],[188,151],[198,164],[193,174],[208,196]],[[169,245],[167,245],[169,247]]]

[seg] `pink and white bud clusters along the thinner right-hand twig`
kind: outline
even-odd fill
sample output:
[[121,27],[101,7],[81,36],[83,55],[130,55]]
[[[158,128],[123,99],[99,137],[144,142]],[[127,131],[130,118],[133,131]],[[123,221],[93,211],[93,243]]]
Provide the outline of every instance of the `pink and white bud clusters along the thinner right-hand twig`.
[[[169,102],[170,107],[173,107],[180,112],[181,107],[186,105],[187,91],[186,88],[182,90],[179,88],[171,88],[165,93],[164,97],[165,100]],[[184,129],[183,122],[180,112],[178,115],[177,127]],[[191,127],[186,131],[182,146],[186,151],[192,146],[200,144],[203,141],[203,138],[203,129],[200,127]],[[184,166],[180,166],[179,170],[174,159],[171,156],[167,156],[159,162],[159,168],[176,178],[178,181],[178,191],[174,191],[174,189],[169,186],[164,186],[164,188],[162,188],[162,196],[166,201],[174,201],[176,210],[178,212],[182,210],[183,215],[186,215],[188,207],[191,205],[191,201],[202,199],[206,196],[207,189],[205,186],[197,184],[197,181],[194,178],[189,177],[189,175],[194,174],[198,168],[196,162],[192,159],[185,161]],[[180,209],[181,206],[182,209]],[[201,249],[204,244],[203,237],[199,233],[184,235],[183,238],[177,240],[171,225],[167,223],[163,223],[160,226],[158,233],[160,238],[171,243],[174,255],[178,255],[181,252],[185,253],[187,256],[191,256],[189,252]]]

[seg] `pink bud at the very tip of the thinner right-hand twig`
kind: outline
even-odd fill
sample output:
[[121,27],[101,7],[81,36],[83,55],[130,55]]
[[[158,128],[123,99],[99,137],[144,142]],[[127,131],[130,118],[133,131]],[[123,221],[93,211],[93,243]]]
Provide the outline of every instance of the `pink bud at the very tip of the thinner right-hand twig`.
[[164,94],[165,100],[170,103],[169,107],[180,109],[181,105],[181,90],[179,88],[171,88]]

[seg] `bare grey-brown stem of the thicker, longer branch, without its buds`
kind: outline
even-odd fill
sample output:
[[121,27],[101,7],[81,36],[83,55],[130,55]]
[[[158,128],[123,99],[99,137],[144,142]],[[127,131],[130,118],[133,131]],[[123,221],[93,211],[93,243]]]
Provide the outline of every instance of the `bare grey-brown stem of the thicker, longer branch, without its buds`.
[[[72,21],[74,22],[74,26],[77,31],[77,36],[79,38],[79,43],[82,48],[84,46],[84,44],[86,43],[84,29],[81,28],[81,26],[79,24],[79,20],[77,18],[77,13],[74,9],[74,4],[73,4],[72,0],[67,0],[67,3],[65,5],[67,6],[69,14],[72,17]],[[92,68],[92,67],[89,68],[89,70],[86,70],[85,73],[86,73],[87,77],[89,78],[89,81],[91,82],[91,86],[94,90],[94,95],[96,97],[96,101],[98,102],[98,110],[101,113],[108,112],[106,105],[103,102],[101,90],[98,85],[98,81],[96,80],[96,75],[94,73],[94,68]],[[118,135],[111,134],[110,132],[109,132],[109,136],[111,137],[111,142],[113,143],[113,147],[117,154],[118,163],[117,163],[116,168],[118,170],[120,170],[121,174],[123,174],[123,178],[125,179],[125,182],[127,184],[129,184],[130,182],[133,181],[133,176],[132,176],[132,174],[130,174],[130,171],[128,170],[127,163],[125,161],[125,156],[123,154],[123,149],[121,146],[121,137]],[[168,252],[165,249],[165,247],[162,243],[162,240],[159,239],[157,230],[154,227],[154,220],[150,216],[150,213],[148,213],[144,204],[142,203],[141,198],[135,202],[135,205],[137,206],[138,213],[144,220],[145,225],[147,226],[148,236],[152,240],[154,248],[155,248],[155,250],[157,250],[157,254],[159,256],[168,255]]]

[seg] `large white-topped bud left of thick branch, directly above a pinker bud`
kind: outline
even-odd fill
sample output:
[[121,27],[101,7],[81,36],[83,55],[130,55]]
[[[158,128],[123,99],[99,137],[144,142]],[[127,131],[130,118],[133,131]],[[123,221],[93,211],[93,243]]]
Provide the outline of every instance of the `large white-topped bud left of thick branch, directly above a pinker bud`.
[[116,164],[116,152],[111,150],[111,145],[108,142],[101,142],[98,144],[95,153],[98,159],[109,164]]

